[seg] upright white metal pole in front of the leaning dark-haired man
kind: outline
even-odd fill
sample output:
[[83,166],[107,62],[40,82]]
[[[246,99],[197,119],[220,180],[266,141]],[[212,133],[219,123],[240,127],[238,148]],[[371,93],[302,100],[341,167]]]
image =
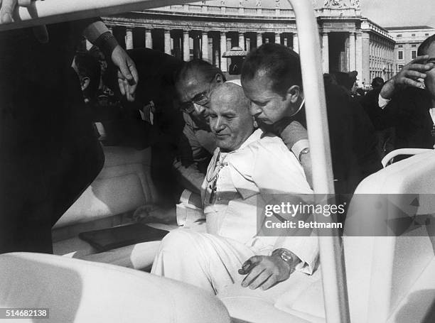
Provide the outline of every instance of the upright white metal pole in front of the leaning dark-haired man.
[[[333,194],[331,148],[317,21],[311,1],[289,0],[289,2],[296,15],[308,139],[313,160],[316,158],[316,163],[313,162],[312,165],[314,192]],[[338,232],[331,233],[331,236],[318,238],[326,321],[348,323],[350,318],[343,252]]]

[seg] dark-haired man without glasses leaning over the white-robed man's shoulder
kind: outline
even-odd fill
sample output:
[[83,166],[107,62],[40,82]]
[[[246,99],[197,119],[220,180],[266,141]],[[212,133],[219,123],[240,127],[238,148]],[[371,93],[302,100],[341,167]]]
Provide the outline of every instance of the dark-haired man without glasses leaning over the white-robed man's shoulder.
[[[259,124],[275,128],[309,180],[311,156],[299,55],[282,45],[260,46],[247,55],[242,86],[251,100],[252,115]],[[335,192],[353,193],[360,180],[381,168],[373,126],[362,107],[334,84],[326,85],[326,106]]]

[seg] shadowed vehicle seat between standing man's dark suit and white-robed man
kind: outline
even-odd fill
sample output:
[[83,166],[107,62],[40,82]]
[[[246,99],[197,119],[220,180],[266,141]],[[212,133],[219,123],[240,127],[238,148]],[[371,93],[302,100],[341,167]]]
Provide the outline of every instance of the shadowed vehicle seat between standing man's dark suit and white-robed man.
[[78,238],[80,232],[131,223],[138,207],[159,201],[151,180],[151,148],[104,147],[104,155],[100,174],[53,226],[55,254],[95,253]]

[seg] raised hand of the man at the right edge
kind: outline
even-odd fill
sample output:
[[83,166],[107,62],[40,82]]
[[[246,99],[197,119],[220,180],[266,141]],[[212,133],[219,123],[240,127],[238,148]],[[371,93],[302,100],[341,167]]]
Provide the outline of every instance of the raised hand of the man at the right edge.
[[407,65],[404,65],[397,75],[385,82],[380,92],[381,97],[391,99],[394,91],[401,86],[424,88],[424,84],[417,80],[426,78],[426,72],[434,68],[432,62],[425,64],[428,58],[429,55],[417,56]]

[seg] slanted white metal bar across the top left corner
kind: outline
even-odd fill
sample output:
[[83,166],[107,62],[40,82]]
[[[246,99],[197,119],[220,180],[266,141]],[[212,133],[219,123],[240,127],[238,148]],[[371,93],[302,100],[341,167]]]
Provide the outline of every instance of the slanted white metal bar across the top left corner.
[[13,14],[14,23],[0,24],[0,31],[142,11],[187,2],[188,0],[36,0],[31,1],[31,6],[28,8],[17,7]]

